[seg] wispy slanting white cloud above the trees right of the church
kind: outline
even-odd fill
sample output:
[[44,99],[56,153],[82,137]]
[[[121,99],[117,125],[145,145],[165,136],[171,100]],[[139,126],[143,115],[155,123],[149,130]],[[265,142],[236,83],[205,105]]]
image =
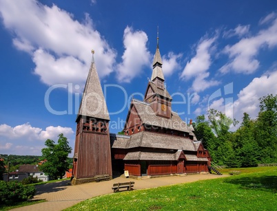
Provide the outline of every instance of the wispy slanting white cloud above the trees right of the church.
[[204,91],[219,83],[216,80],[207,80],[209,77],[209,72],[207,70],[212,64],[211,54],[214,41],[216,41],[216,37],[201,39],[196,47],[196,55],[187,62],[187,65],[185,65],[183,69],[181,78],[183,80],[194,78],[194,82],[192,82],[192,89],[194,91]]

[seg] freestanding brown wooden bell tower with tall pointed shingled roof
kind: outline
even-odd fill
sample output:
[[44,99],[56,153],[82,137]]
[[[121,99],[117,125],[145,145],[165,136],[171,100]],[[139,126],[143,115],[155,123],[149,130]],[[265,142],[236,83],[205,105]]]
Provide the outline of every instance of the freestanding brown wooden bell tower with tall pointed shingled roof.
[[112,179],[109,122],[92,50],[92,63],[76,117],[72,184],[97,181],[101,177]]

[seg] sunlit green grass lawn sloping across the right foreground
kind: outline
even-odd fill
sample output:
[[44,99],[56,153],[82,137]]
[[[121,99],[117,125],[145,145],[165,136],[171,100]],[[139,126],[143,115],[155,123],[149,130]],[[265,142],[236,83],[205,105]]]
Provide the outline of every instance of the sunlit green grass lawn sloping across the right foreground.
[[67,210],[277,210],[277,167],[232,170],[241,174],[123,191],[88,199]]

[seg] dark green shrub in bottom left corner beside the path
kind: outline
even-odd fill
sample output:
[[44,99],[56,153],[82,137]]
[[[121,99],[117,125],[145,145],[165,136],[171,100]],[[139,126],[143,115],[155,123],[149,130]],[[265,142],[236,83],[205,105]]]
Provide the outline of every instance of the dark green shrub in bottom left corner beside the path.
[[0,181],[0,203],[11,204],[18,201],[32,199],[36,189],[34,186],[23,186],[23,184],[10,181]]

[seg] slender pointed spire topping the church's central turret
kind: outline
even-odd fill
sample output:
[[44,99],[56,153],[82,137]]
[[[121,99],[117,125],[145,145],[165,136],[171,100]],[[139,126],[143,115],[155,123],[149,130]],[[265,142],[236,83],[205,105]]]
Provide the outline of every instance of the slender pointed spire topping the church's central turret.
[[165,77],[163,76],[163,69],[162,69],[162,59],[160,50],[158,49],[158,31],[157,31],[157,47],[156,47],[156,53],[153,60],[153,71],[151,80],[153,81],[155,78],[160,78],[161,80],[165,80]]

